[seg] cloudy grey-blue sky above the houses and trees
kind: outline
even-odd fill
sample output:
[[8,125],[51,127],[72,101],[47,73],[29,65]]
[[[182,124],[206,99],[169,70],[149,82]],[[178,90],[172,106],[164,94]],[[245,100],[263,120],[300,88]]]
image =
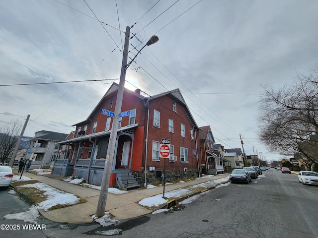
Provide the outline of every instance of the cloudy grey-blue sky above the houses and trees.
[[179,88],[217,144],[242,148],[241,135],[247,155],[279,160],[257,135],[262,86],[317,63],[317,9],[317,0],[1,0],[0,127],[30,115],[25,136],[75,130],[119,83],[129,26],[129,61],[159,41],[131,64],[126,88],[146,97]]

